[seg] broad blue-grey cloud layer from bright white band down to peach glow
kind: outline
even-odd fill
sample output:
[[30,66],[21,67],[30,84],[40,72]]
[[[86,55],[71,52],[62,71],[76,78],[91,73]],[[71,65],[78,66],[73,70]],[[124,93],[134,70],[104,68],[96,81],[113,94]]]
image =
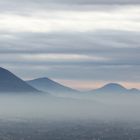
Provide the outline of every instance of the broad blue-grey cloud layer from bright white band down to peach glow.
[[[3,34],[0,39],[1,66],[23,78],[49,76],[140,81],[139,32],[102,30],[87,33],[5,33],[2,36]],[[19,57],[51,53],[98,56],[107,60],[40,62]]]

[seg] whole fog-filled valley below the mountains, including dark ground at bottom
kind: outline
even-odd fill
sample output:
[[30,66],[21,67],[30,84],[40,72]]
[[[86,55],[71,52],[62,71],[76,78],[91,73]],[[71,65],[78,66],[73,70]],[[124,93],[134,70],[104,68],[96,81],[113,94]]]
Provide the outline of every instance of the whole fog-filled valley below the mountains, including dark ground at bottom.
[[[67,94],[67,93],[66,93]],[[0,95],[1,140],[138,140],[140,95]]]

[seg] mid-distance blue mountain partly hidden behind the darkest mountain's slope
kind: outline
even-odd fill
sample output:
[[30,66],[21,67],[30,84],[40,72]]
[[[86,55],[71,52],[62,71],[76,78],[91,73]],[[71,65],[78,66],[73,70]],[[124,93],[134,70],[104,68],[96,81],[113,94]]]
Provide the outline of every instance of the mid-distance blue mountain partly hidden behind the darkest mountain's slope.
[[29,85],[33,86],[36,89],[39,89],[44,92],[50,93],[75,93],[78,92],[72,88],[61,85],[49,78],[38,78],[30,81],[26,81]]

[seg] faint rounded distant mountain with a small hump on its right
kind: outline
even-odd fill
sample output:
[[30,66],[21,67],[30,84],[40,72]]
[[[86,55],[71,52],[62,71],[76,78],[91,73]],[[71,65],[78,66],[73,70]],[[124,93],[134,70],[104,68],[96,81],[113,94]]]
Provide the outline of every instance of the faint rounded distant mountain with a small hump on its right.
[[138,89],[127,89],[117,83],[109,83],[101,88],[90,91],[90,93],[140,93]]

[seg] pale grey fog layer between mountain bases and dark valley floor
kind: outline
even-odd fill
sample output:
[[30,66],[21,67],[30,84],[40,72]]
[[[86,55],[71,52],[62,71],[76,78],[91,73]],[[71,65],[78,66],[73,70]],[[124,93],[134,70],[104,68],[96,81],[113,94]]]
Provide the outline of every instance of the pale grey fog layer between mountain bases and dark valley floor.
[[140,121],[140,95],[1,95],[0,119]]

